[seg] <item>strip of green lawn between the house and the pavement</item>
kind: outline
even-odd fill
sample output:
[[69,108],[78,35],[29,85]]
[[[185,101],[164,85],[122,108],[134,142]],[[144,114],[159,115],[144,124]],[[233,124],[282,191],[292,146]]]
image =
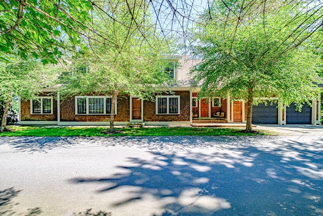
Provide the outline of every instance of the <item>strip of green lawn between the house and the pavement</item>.
[[12,132],[0,133],[0,137],[111,137],[111,136],[257,136],[274,135],[272,132],[259,131],[257,135],[252,133],[242,133],[243,128],[228,127],[141,127],[141,128],[116,128],[121,133],[114,135],[104,135],[102,132],[108,131],[109,127],[104,126],[8,126]]

